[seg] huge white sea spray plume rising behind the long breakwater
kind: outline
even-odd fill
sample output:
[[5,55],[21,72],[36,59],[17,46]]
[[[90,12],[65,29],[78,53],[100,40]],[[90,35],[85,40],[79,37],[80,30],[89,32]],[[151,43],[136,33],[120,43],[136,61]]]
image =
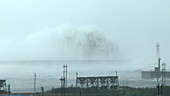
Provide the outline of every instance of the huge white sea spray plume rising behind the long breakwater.
[[[114,59],[118,49],[94,27],[62,25],[1,43],[3,60]],[[4,41],[5,42],[5,41]],[[12,53],[12,54],[11,54]]]

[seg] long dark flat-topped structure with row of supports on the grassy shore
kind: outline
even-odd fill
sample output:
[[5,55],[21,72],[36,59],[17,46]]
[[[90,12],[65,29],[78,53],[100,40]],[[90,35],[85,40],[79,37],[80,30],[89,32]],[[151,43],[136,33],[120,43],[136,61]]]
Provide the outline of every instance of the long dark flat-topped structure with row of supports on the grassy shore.
[[77,77],[76,85],[81,88],[118,88],[118,76]]

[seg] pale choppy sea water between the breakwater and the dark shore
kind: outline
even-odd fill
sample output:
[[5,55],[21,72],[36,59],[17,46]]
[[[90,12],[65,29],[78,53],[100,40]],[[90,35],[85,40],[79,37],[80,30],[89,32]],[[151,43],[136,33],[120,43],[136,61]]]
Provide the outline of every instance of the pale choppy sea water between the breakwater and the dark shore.
[[75,86],[78,76],[119,76],[121,86],[154,87],[156,81],[141,79],[141,70],[122,61],[114,60],[61,60],[61,61],[1,61],[0,79],[7,80],[12,92],[33,92],[34,73],[37,74],[36,91],[60,87],[63,65],[67,64],[68,87]]

